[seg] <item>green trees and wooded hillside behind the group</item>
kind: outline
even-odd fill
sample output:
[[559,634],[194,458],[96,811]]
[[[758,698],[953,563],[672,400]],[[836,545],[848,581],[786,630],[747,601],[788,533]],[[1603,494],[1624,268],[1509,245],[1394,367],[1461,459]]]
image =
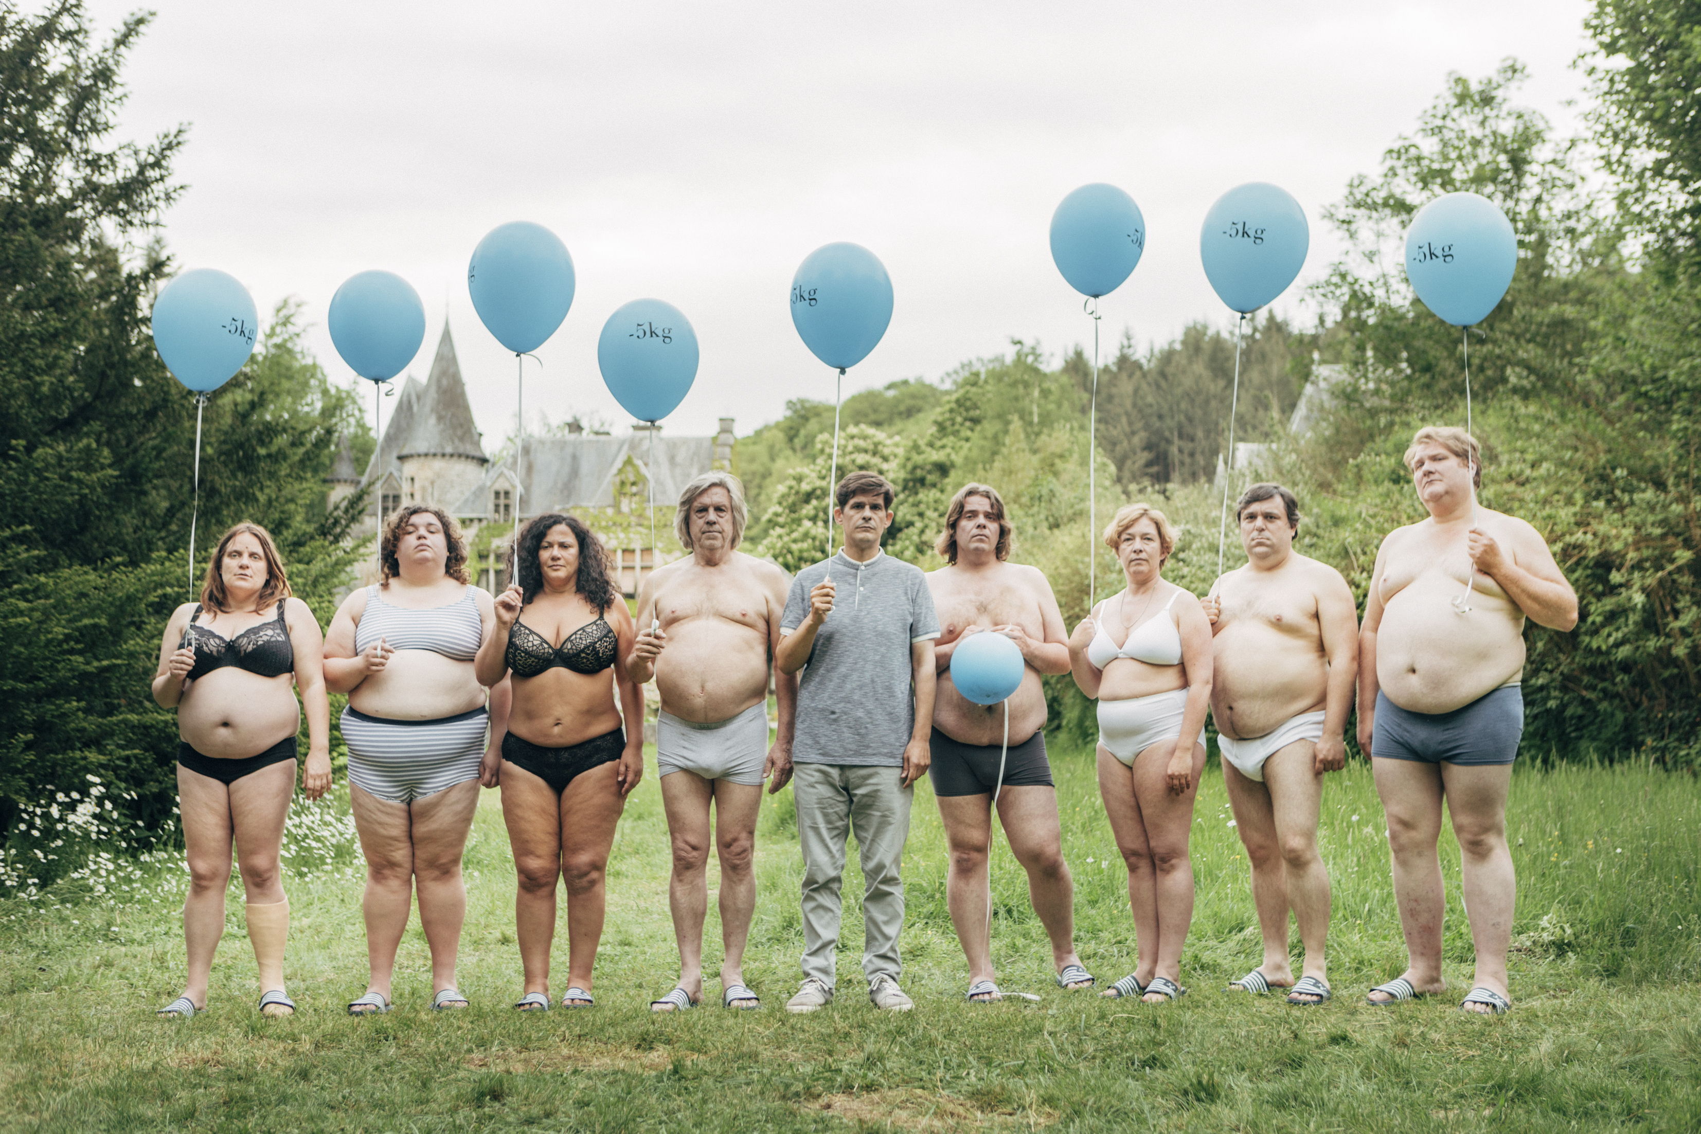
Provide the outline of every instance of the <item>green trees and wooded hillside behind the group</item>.
[[[187,129],[116,136],[122,65],[148,17],[97,32],[82,3],[0,5],[0,825],[15,801],[100,775],[131,818],[170,811],[175,728],[148,697],[158,627],[189,595],[185,547],[194,403],[162,369],[148,309],[175,270],[163,238]],[[1694,338],[1701,325],[1701,5],[1601,0],[1587,20],[1585,129],[1560,136],[1521,107],[1522,68],[1454,77],[1376,172],[1322,216],[1347,255],[1313,298],[1325,316],[1257,320],[1237,439],[1276,442],[1272,473],[1305,502],[1301,549],[1359,593],[1380,537],[1417,517],[1398,457],[1427,422],[1463,422],[1454,328],[1419,304],[1400,233],[1425,201],[1471,189],[1521,243],[1517,277],[1473,332],[1483,498],[1534,522],[1582,597],[1582,624],[1529,631],[1527,750],[1538,757],[1696,762],[1698,559]],[[1283,423],[1313,360],[1344,367],[1303,439]],[[1184,524],[1172,575],[1216,571],[1209,476],[1226,440],[1232,326],[1170,343],[1121,343],[1099,377],[1101,522],[1141,496]],[[900,485],[895,554],[927,563],[936,524],[966,479],[998,485],[1017,556],[1044,566],[1065,609],[1087,605],[1089,359],[1012,342],[936,381],[845,401],[840,468]],[[825,547],[832,406],[794,401],[740,440],[757,508],[752,546],[788,564]],[[202,547],[259,519],[321,617],[347,573],[362,507],[327,510],[338,435],[371,435],[352,391],[327,381],[291,306],[208,406]],[[1232,559],[1233,561],[1233,559]],[[1114,588],[1097,561],[1097,590]],[[1090,716],[1067,683],[1053,724]]]

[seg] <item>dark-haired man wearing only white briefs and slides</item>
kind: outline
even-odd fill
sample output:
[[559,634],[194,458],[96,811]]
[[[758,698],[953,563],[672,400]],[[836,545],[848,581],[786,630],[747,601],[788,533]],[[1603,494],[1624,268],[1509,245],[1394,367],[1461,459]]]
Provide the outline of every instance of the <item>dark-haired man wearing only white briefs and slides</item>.
[[[1328,870],[1317,852],[1323,775],[1345,763],[1357,675],[1357,609],[1340,571],[1293,549],[1300,503],[1254,485],[1235,505],[1247,564],[1201,598],[1211,619],[1211,717],[1223,782],[1252,865],[1264,961],[1230,988],[1289,988],[1288,1003],[1328,1000]],[[1305,962],[1288,957],[1288,911]]]

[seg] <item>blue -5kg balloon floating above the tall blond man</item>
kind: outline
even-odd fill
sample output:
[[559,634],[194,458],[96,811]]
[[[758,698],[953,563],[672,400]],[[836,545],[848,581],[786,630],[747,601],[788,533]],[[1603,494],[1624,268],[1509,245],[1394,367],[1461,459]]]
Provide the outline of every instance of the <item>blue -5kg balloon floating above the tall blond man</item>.
[[1488,318],[1516,270],[1512,221],[1473,192],[1436,197],[1405,230],[1405,277],[1424,306],[1454,326]]

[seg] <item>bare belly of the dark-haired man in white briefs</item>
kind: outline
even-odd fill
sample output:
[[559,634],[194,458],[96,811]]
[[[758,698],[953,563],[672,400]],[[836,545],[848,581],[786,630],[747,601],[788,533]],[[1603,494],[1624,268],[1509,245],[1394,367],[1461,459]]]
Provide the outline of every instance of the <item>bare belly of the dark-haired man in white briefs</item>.
[[1264,736],[1323,707],[1328,663],[1317,641],[1249,619],[1225,626],[1211,646],[1211,719],[1225,736]]

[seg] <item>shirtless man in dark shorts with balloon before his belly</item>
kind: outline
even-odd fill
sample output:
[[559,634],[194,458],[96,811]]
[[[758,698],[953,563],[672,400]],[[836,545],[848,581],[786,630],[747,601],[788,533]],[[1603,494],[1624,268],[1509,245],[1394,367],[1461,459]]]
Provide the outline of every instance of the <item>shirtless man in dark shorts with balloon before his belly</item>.
[[[927,576],[942,627],[934,643],[939,690],[927,775],[951,853],[946,904],[968,957],[968,1000],[1002,996],[987,916],[993,797],[1010,852],[1027,872],[1027,898],[1051,938],[1058,984],[1090,988],[1094,978],[1075,954],[1075,882],[1063,862],[1058,796],[1046,760],[1046,694],[1039,687],[1041,673],[1068,673],[1063,612],[1039,568],[1009,563],[1010,520],[990,485],[958,490],[936,551],[946,566]],[[978,706],[951,678],[951,655],[975,634],[1004,634],[1022,651],[1022,683],[1004,704]]]

